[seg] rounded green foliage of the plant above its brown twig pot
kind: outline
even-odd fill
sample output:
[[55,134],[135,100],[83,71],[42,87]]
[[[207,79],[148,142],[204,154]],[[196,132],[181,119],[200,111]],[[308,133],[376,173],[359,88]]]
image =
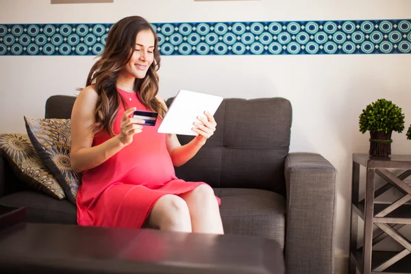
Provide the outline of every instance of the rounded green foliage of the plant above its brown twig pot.
[[[386,99],[377,101],[366,106],[360,114],[360,132],[399,132],[404,129],[404,114],[395,103]],[[411,133],[410,133],[411,134]]]

